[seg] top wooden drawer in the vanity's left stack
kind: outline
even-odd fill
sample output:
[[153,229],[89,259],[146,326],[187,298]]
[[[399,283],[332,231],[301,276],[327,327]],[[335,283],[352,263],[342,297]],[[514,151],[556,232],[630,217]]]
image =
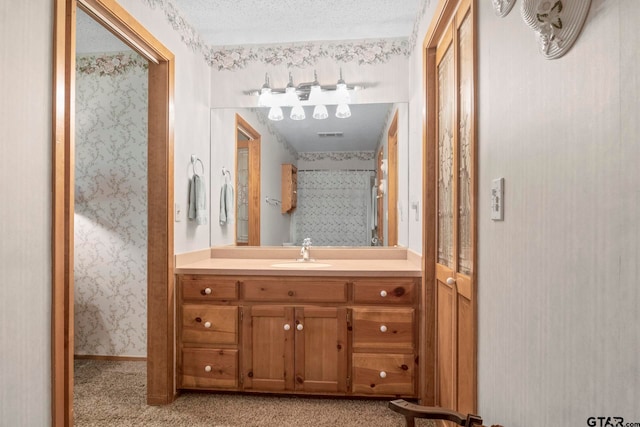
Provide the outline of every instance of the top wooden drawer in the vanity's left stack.
[[221,301],[238,299],[238,280],[232,277],[180,276],[182,299],[189,301]]

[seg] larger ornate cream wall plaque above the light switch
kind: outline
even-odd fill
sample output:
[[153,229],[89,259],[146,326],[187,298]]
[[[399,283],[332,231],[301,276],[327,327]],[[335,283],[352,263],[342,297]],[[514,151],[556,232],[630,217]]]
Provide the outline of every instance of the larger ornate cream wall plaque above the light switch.
[[590,7],[591,0],[522,0],[521,14],[535,31],[542,55],[556,59],[575,43]]

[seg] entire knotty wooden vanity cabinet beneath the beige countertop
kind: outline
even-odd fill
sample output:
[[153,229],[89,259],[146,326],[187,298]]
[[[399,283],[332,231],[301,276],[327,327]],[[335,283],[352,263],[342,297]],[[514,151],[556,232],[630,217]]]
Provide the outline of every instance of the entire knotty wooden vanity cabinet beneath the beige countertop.
[[418,278],[178,277],[179,388],[417,397]]

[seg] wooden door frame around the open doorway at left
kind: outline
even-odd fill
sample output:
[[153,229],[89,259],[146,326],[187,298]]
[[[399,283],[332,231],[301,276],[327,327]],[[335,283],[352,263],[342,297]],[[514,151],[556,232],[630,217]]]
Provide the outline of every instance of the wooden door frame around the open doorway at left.
[[[147,403],[175,399],[174,55],[115,0],[54,0],[52,88],[51,420],[73,425],[76,8],[149,60]],[[151,215],[153,213],[153,215]]]

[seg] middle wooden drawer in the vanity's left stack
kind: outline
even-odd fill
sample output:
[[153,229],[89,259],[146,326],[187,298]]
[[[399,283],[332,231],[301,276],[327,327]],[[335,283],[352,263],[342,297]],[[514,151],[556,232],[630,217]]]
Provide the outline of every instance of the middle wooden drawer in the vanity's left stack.
[[238,307],[183,304],[182,342],[185,344],[237,344]]

